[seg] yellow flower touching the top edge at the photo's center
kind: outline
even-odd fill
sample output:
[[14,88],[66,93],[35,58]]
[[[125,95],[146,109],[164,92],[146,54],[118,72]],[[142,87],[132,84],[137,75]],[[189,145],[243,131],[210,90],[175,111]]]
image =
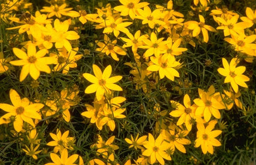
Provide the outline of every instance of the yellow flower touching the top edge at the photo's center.
[[[137,9],[149,5],[148,2],[140,2],[140,0],[119,0],[122,5],[114,7],[114,10],[120,11],[121,16],[130,16],[131,19],[135,19],[137,15]],[[140,3],[139,3],[140,2]]]

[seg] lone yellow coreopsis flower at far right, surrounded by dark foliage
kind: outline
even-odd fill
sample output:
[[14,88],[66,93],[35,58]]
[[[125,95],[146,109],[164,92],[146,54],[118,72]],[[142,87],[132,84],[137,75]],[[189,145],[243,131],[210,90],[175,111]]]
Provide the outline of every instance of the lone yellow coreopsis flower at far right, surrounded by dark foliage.
[[250,79],[249,77],[243,75],[243,73],[246,70],[246,67],[236,67],[236,65],[238,64],[237,58],[231,59],[229,64],[225,58],[222,58],[222,63],[224,68],[218,68],[217,71],[222,76],[225,76],[224,83],[230,82],[232,88],[234,89],[234,92],[236,93],[239,91],[239,85],[248,88],[245,82],[248,82]]

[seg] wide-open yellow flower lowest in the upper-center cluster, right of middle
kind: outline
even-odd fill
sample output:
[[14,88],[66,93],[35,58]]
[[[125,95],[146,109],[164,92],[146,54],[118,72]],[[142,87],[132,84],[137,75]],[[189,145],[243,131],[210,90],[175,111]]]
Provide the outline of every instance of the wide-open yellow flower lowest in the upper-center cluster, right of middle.
[[149,65],[147,70],[149,71],[158,71],[160,79],[163,79],[166,76],[168,79],[174,81],[174,77],[180,77],[180,73],[175,70],[175,67],[178,67],[180,62],[175,61],[175,58],[170,58],[169,55],[160,55],[158,57],[152,56],[151,58],[152,65]]

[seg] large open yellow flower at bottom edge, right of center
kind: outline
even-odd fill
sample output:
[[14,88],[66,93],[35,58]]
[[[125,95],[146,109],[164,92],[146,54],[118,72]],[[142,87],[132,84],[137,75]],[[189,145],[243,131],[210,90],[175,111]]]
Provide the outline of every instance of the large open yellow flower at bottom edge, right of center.
[[154,164],[155,161],[164,164],[164,159],[172,160],[170,154],[166,152],[169,146],[164,145],[163,140],[161,134],[157,139],[155,139],[151,133],[148,134],[148,140],[145,142],[145,145],[143,145],[146,149],[142,152],[142,155],[149,157],[150,164]]

